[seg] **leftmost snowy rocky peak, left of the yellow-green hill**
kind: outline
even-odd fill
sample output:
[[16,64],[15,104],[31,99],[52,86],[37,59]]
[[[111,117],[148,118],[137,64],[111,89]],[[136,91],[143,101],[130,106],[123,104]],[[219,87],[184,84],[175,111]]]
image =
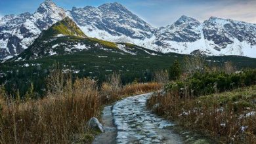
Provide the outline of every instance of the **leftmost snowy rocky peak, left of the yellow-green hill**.
[[47,0],[34,14],[7,15],[0,20],[0,59],[16,56],[32,45],[42,30],[68,14]]

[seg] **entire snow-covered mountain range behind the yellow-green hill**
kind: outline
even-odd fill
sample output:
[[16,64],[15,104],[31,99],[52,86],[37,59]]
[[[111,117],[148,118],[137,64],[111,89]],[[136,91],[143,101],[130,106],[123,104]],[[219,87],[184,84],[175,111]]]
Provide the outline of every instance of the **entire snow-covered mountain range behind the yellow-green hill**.
[[211,17],[199,22],[188,16],[155,28],[119,3],[64,10],[51,0],[33,13],[0,20],[0,59],[23,52],[41,31],[69,16],[88,37],[115,43],[133,43],[157,52],[238,55],[256,58],[256,24]]

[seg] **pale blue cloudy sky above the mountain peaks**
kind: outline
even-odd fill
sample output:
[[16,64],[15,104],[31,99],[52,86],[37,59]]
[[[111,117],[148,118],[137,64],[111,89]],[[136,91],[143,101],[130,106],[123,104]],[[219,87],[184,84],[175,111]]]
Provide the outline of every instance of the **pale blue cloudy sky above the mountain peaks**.
[[[0,18],[6,14],[35,12],[43,0],[0,0]],[[155,27],[173,24],[182,15],[200,22],[211,16],[256,24],[256,0],[53,0],[56,5],[72,7],[103,3],[121,3],[131,12]]]

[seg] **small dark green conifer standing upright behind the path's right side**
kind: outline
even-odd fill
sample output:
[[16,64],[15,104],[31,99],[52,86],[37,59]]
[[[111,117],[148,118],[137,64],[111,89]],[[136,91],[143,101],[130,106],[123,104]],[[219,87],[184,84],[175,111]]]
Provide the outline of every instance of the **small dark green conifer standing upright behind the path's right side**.
[[177,80],[179,77],[181,77],[181,65],[175,60],[173,65],[169,68],[169,80]]

